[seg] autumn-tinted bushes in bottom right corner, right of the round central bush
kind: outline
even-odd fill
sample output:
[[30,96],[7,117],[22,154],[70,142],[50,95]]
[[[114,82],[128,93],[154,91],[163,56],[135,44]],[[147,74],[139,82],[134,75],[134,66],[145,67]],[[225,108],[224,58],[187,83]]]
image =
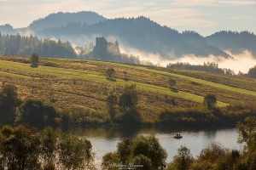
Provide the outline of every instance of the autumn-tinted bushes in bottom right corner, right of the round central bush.
[[244,144],[242,150],[230,150],[220,143],[212,143],[201,150],[199,156],[193,157],[190,150],[181,146],[177,155],[168,163],[166,170],[207,169],[207,170],[240,170],[255,169],[255,128],[256,117],[248,116],[246,123],[237,124],[239,138],[237,142]]

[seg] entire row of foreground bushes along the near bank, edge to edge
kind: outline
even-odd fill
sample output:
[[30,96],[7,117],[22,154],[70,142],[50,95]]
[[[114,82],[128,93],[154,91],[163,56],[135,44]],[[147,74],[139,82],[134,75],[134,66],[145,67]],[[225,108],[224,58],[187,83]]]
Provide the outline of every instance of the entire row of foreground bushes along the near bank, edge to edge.
[[[142,170],[240,170],[254,169],[256,117],[248,116],[245,123],[238,122],[241,150],[230,150],[220,143],[212,143],[192,156],[189,148],[181,145],[171,162],[153,134],[137,139],[122,139],[117,150],[102,156],[102,169],[130,167]],[[56,133],[52,127],[38,131],[36,127],[21,124],[0,128],[1,169],[99,169],[94,161],[90,140],[67,133]]]

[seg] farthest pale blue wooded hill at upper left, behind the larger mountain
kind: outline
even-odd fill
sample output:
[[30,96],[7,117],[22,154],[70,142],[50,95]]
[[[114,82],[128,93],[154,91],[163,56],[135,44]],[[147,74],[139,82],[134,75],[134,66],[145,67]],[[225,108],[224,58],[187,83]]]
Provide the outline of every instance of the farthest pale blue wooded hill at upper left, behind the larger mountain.
[[67,26],[68,22],[80,22],[84,25],[95,24],[99,21],[106,20],[102,15],[90,11],[81,11],[77,13],[49,14],[43,19],[32,21],[30,28],[32,31],[42,31],[45,28]]

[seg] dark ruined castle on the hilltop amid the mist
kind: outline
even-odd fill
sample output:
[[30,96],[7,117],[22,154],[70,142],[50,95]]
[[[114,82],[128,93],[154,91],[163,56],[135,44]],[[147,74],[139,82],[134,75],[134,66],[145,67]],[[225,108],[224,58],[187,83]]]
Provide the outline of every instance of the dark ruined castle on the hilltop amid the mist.
[[96,54],[120,54],[119,42],[107,42],[104,37],[96,37]]

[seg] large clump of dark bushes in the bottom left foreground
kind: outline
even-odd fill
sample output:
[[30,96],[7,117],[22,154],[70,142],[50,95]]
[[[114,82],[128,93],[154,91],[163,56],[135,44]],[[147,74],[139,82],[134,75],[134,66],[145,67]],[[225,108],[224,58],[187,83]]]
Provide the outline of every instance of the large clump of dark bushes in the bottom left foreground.
[[0,169],[96,169],[89,140],[26,124],[0,129],[0,158]]

